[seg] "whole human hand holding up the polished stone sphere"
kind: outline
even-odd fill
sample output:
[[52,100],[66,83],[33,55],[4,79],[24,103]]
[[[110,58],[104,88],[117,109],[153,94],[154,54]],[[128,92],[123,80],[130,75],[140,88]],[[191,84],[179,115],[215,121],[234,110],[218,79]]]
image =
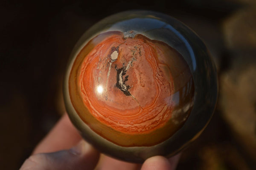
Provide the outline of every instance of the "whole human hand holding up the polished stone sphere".
[[20,170],[174,170],[179,157],[154,156],[141,165],[100,156],[81,138],[66,114],[38,144]]

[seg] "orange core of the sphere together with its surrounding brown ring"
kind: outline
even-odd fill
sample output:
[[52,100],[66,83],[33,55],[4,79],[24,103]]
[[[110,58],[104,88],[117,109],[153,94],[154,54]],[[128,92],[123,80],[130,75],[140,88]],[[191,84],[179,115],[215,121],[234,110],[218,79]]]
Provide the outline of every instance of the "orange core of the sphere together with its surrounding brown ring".
[[93,37],[76,56],[69,94],[95,133],[120,146],[152,146],[183,126],[194,84],[186,61],[168,44],[113,31]]

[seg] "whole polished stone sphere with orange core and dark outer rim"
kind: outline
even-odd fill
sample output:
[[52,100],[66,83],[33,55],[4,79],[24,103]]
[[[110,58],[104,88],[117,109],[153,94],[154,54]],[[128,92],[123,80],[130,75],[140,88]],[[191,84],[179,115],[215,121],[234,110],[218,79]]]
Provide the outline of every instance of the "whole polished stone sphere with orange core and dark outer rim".
[[186,147],[208,124],[217,91],[200,38],[150,11],[114,14],[87,30],[64,80],[66,109],[81,135],[131,162]]

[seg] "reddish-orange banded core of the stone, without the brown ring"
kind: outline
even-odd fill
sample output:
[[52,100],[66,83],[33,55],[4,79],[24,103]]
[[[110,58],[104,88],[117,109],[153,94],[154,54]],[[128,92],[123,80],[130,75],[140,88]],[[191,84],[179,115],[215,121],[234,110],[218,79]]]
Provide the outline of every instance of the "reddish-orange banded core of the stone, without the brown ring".
[[172,115],[173,82],[161,49],[143,35],[105,38],[84,58],[79,84],[99,121],[124,133],[145,133]]

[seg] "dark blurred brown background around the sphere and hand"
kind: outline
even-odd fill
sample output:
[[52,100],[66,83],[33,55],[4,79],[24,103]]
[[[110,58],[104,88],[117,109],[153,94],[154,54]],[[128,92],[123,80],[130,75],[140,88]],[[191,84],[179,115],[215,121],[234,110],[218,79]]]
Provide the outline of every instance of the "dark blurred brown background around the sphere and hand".
[[[22,3],[21,3],[22,2]],[[62,80],[79,37],[129,9],[169,14],[204,40],[219,99],[177,169],[256,169],[256,0],[55,0],[0,2],[0,162],[16,170],[65,112]]]

